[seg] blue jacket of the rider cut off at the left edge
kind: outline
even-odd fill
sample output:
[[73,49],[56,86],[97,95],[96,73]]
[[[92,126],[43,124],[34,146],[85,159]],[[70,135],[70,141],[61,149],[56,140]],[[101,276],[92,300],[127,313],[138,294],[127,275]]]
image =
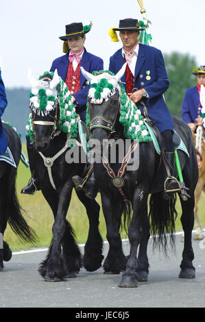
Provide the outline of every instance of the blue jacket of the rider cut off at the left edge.
[[6,148],[8,147],[7,138],[1,123],[1,116],[7,106],[7,99],[5,95],[5,87],[3,84],[3,79],[1,78],[1,69],[0,69],[0,155],[5,153]]

